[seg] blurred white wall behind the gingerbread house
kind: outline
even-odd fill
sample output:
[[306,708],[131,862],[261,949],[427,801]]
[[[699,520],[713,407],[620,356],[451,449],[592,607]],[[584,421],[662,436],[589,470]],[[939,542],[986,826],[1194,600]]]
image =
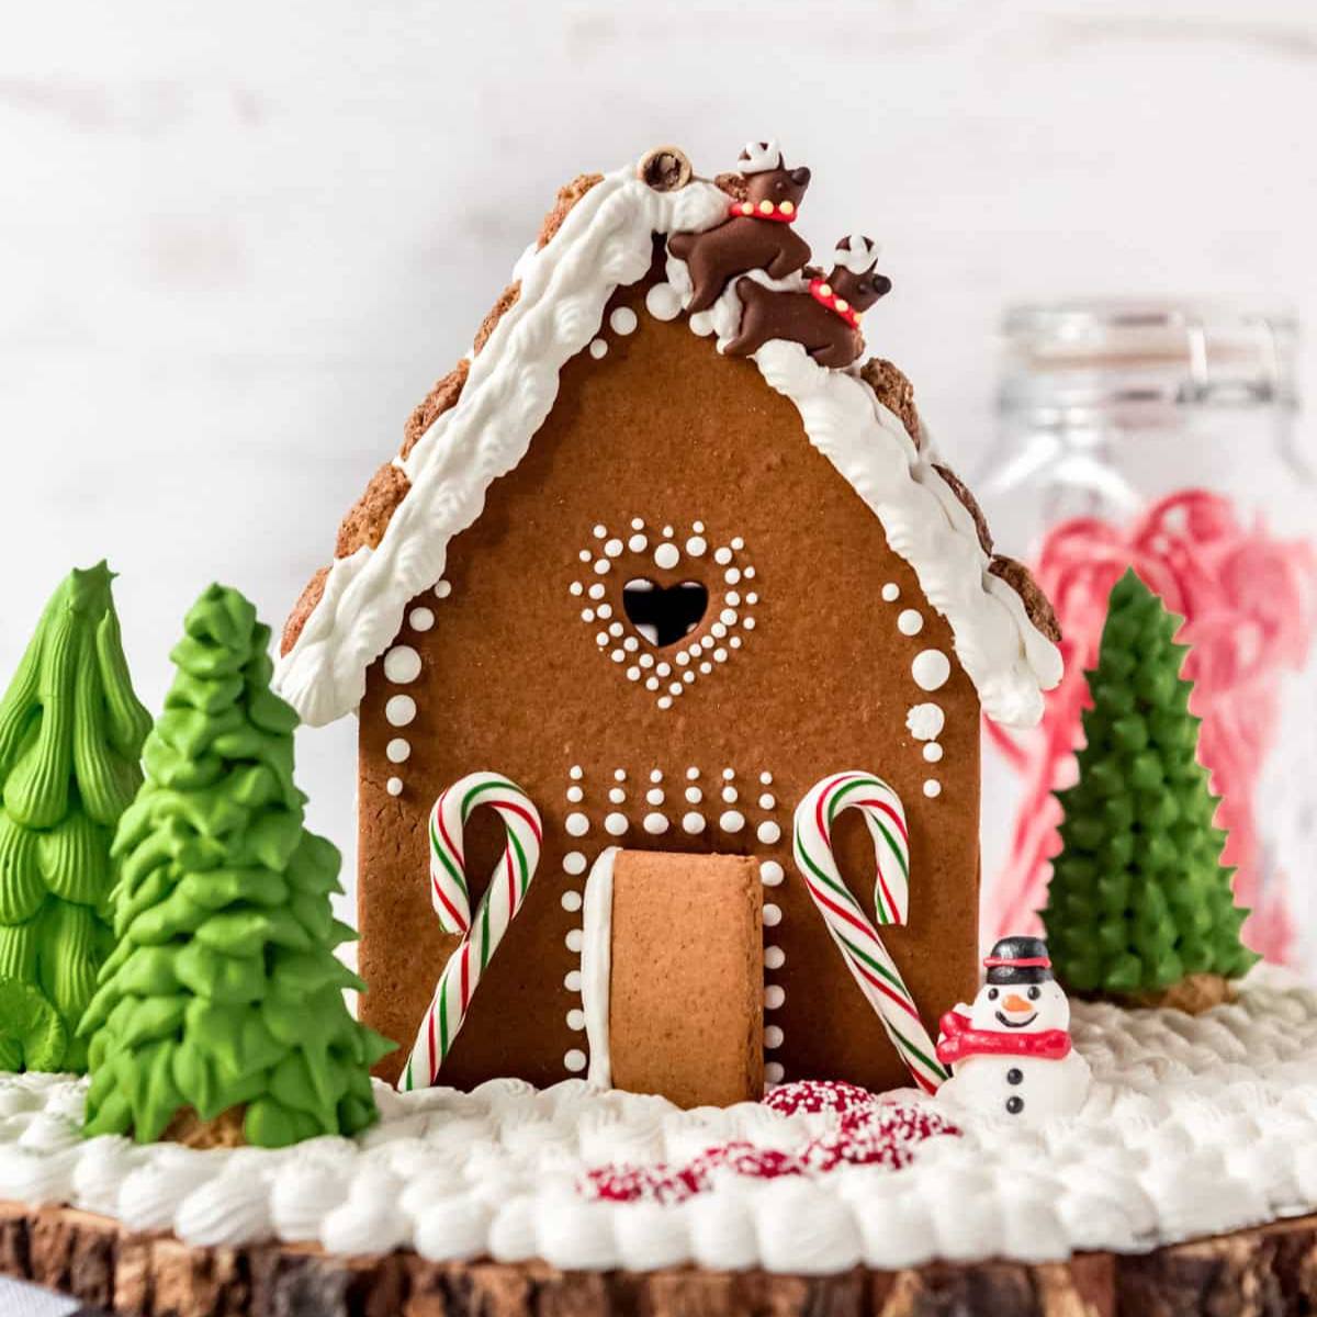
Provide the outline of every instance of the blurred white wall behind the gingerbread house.
[[[871,348],[954,461],[1011,299],[1317,319],[1317,7],[851,0],[12,7],[0,38],[0,674],[108,556],[144,699],[212,578],[278,626],[558,183],[777,136],[817,248],[885,242]],[[1305,352],[1312,394],[1317,371]],[[1010,548],[1009,527],[996,527]],[[3,677],[0,677],[3,680]],[[303,732],[350,852],[350,720]]]

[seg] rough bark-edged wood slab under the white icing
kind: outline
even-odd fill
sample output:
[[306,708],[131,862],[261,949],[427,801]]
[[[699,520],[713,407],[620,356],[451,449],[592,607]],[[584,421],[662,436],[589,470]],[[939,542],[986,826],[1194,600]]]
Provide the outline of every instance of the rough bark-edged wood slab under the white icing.
[[0,1272],[71,1295],[88,1317],[1287,1317],[1317,1310],[1317,1217],[1134,1258],[639,1275],[194,1249],[86,1212],[0,1202]]

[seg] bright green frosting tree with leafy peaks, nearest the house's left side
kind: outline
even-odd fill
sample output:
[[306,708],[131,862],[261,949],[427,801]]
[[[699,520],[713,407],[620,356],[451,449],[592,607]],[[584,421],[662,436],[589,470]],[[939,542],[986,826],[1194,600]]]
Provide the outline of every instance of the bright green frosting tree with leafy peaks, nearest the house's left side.
[[82,1022],[87,1134],[161,1137],[241,1115],[248,1143],[356,1134],[392,1044],[357,1023],[333,954],[338,852],[303,827],[296,714],[270,690],[270,628],[211,586],[171,657],[146,784],[115,838],[115,935]]

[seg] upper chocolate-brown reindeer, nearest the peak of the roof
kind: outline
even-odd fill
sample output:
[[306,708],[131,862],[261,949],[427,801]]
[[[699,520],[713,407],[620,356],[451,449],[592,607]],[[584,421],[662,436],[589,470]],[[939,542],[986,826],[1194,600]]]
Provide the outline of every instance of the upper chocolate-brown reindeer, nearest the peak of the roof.
[[668,250],[690,267],[690,312],[707,311],[739,274],[765,270],[785,279],[810,258],[792,228],[810,186],[807,169],[786,169],[777,142],[751,142],[740,157],[745,199],[728,199],[728,217],[703,233],[674,233]]

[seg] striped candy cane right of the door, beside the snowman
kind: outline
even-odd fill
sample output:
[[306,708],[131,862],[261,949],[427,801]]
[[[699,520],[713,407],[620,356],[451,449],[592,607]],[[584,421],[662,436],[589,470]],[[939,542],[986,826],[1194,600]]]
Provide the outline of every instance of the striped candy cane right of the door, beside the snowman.
[[900,925],[910,913],[910,836],[901,797],[872,773],[824,777],[795,807],[794,855],[827,931],[860,992],[873,1008],[915,1083],[932,1093],[947,1079],[901,971],[877,928],[851,896],[832,855],[832,820],[857,809],[873,838],[877,873],[873,903],[880,925]]

